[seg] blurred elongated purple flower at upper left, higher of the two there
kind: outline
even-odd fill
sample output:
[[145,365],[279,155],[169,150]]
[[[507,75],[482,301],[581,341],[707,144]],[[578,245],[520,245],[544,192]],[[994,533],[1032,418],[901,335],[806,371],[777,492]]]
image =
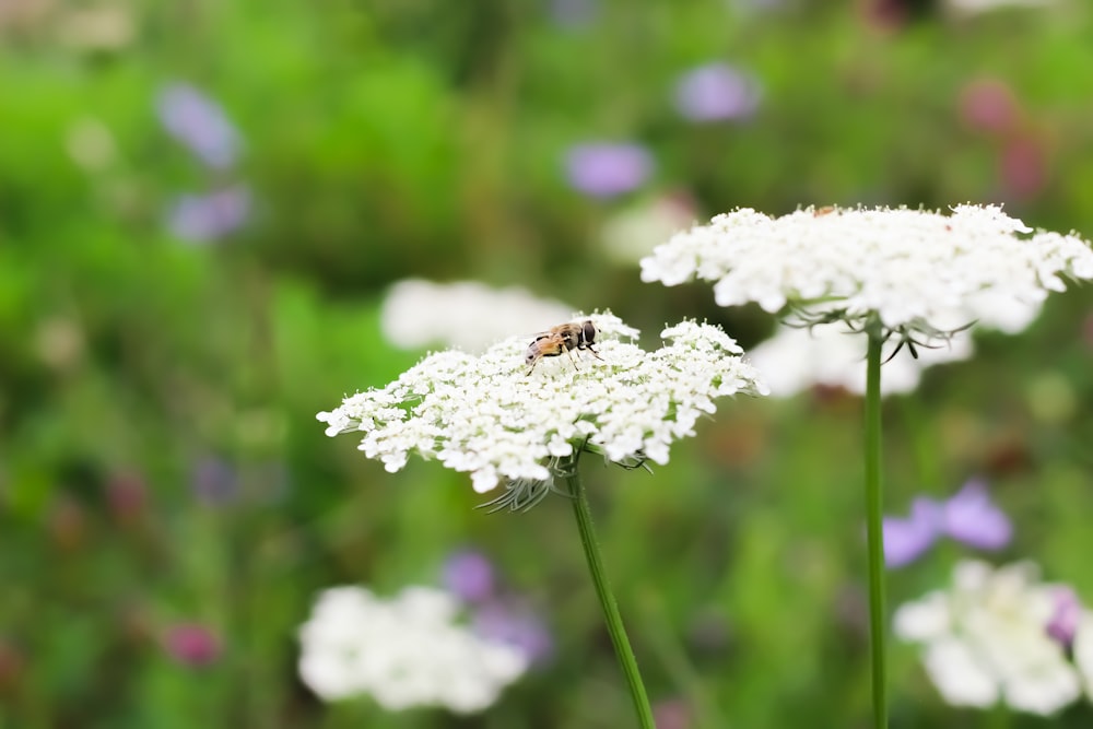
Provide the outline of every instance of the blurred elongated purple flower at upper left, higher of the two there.
[[201,162],[215,169],[235,163],[239,134],[219,104],[189,84],[174,83],[160,93],[156,107],[167,132]]

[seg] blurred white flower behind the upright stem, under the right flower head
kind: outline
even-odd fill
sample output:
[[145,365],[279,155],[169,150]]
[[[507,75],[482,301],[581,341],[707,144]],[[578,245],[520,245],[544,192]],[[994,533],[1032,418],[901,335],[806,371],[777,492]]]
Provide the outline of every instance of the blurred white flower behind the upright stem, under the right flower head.
[[[749,356],[763,373],[774,397],[788,398],[816,385],[862,395],[867,342],[851,333],[839,322],[811,328],[780,326],[774,337],[755,346]],[[918,387],[924,369],[966,360],[972,356],[972,339],[961,333],[939,346],[917,349],[917,358],[894,358],[884,365],[881,393],[910,392]]]

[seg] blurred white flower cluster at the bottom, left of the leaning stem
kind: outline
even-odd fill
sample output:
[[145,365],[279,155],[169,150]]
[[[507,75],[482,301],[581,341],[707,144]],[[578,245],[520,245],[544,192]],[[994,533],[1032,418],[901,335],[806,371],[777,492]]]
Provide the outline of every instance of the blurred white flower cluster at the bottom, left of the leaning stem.
[[299,675],[320,698],[369,695],[387,710],[480,712],[528,667],[517,647],[458,622],[459,600],[432,587],[381,599],[362,587],[324,591],[299,628]]

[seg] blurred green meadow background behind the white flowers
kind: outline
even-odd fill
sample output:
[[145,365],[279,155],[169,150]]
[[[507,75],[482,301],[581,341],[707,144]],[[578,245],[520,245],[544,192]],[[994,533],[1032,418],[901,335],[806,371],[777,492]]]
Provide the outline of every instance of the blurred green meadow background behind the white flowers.
[[[324,436],[446,330],[556,324],[443,291],[399,318],[392,285],[751,348],[769,317],[638,259],[736,207],[1000,202],[1088,238],[1090,37],[1080,0],[0,1],[0,726],[632,726],[564,499],[487,515],[465,475]],[[989,558],[1093,600],[1091,354],[1074,289],[890,397],[888,510],[980,477],[1014,532]],[[860,410],[726,401],[651,475],[586,463],[662,727],[868,721]],[[467,550],[543,644],[493,707],[302,683],[319,590],[442,585]],[[967,553],[891,572],[891,604]],[[951,707],[892,658],[894,727],[1093,722]]]

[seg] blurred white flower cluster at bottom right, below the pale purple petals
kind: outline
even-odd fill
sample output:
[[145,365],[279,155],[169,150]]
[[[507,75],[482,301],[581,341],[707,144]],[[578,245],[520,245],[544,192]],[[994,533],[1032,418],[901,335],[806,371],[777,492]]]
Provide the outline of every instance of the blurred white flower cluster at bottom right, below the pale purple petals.
[[896,611],[895,634],[922,645],[926,672],[947,702],[1001,701],[1046,716],[1080,696],[1078,671],[1047,632],[1059,586],[1038,578],[1027,562],[994,569],[963,561],[949,590]]

